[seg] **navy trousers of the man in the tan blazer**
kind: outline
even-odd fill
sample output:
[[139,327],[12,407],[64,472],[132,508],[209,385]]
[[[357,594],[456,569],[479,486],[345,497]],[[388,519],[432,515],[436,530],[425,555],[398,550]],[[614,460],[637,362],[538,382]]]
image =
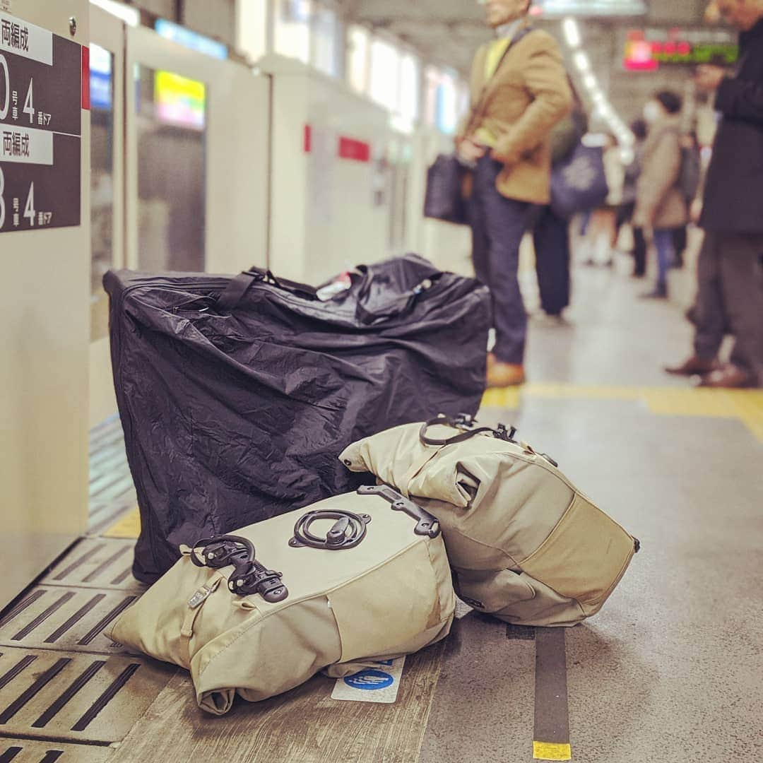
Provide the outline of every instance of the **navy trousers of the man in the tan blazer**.
[[468,215],[472,226],[472,260],[477,278],[490,288],[493,298],[493,352],[504,363],[524,359],[527,316],[517,271],[520,243],[532,204],[505,198],[495,181],[503,169],[489,154],[479,159]]

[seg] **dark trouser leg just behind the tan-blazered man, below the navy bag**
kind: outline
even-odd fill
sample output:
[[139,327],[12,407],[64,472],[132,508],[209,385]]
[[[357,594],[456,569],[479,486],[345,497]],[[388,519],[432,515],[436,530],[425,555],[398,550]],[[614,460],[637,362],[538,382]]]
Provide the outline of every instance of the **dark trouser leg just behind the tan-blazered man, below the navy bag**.
[[533,230],[540,304],[549,315],[559,315],[570,299],[568,221],[546,207]]

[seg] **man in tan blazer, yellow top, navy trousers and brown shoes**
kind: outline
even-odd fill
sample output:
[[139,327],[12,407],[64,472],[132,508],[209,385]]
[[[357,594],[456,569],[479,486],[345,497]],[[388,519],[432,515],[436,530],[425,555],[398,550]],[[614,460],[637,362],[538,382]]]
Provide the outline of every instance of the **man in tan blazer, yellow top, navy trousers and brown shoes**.
[[572,94],[556,41],[530,27],[530,0],[481,2],[497,39],[475,56],[472,112],[456,146],[475,168],[472,258],[494,304],[488,386],[504,387],[524,381],[527,318],[517,279],[519,247],[533,204],[549,203],[549,134],[571,109]]

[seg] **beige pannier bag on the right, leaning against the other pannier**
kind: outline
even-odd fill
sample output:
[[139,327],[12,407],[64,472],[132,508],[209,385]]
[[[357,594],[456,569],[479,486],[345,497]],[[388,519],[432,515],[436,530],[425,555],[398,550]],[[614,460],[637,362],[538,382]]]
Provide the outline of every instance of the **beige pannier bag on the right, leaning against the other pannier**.
[[639,542],[513,434],[438,417],[362,439],[340,459],[439,520],[467,604],[509,623],[571,626],[600,610]]

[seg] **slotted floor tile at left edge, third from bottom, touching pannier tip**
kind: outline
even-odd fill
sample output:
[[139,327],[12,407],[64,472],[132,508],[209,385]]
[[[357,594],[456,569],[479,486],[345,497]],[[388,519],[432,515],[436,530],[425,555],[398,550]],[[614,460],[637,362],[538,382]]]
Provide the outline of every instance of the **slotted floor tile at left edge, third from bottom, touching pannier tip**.
[[0,619],[0,644],[105,655],[126,653],[103,632],[139,595],[96,588],[36,586]]

